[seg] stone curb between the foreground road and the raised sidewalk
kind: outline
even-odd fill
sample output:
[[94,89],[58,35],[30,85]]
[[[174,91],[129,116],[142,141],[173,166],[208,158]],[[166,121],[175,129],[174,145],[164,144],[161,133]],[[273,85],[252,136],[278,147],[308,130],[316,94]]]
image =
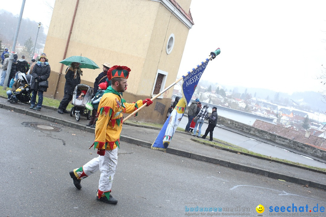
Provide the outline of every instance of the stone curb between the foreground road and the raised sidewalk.
[[[37,112],[29,111],[27,109],[16,108],[14,106],[6,105],[6,104],[3,104],[3,103],[0,103],[0,108],[7,109],[7,110],[13,110],[14,112],[17,112],[17,113],[20,113],[20,114],[25,114],[25,115],[33,116],[33,117],[40,118],[40,119],[43,119],[43,120],[48,120],[50,122],[62,124],[64,126],[68,126],[68,127],[71,127],[71,128],[85,130],[85,131],[88,131],[88,132],[95,132],[94,128],[89,128],[89,127],[83,126],[82,124],[72,123],[70,121],[61,120],[61,119],[51,117],[51,116],[48,116],[48,115],[44,115],[44,114],[37,114]],[[139,125],[136,125],[136,124],[135,125],[134,124],[127,124],[127,125],[140,127]],[[143,126],[141,126],[141,127],[143,127]],[[157,127],[147,127],[147,126],[145,126],[145,127],[146,128],[151,128],[151,129],[157,129]],[[144,142],[142,140],[134,139],[134,138],[131,138],[131,137],[128,137],[128,136],[123,136],[123,135],[121,135],[120,140],[124,141],[124,142],[128,142],[128,143],[140,145],[140,146],[143,146],[143,147],[147,147],[147,148],[150,148],[152,146],[152,144],[150,142]],[[234,162],[228,162],[228,161],[220,160],[220,159],[217,159],[217,158],[212,158],[212,157],[208,157],[208,156],[204,156],[204,155],[194,154],[194,153],[179,150],[179,149],[176,149],[176,148],[168,148],[166,150],[166,153],[173,154],[173,155],[178,155],[178,156],[183,156],[183,157],[188,157],[188,158],[191,158],[191,159],[204,161],[204,162],[207,162],[207,163],[213,163],[213,164],[216,164],[216,165],[229,167],[229,168],[232,168],[232,169],[235,169],[235,170],[241,170],[241,171],[250,172],[250,173],[254,173],[254,174],[258,174],[258,175],[263,175],[263,176],[266,176],[266,177],[269,177],[269,178],[272,178],[272,179],[280,179],[280,180],[284,180],[284,181],[291,182],[291,183],[302,184],[304,186],[309,186],[309,187],[314,187],[314,188],[326,190],[326,184],[314,183],[314,182],[311,182],[309,180],[303,180],[303,179],[300,179],[300,178],[297,178],[297,177],[290,177],[290,176],[287,176],[285,174],[275,173],[275,172],[271,172],[271,171],[267,171],[267,170],[261,170],[261,169],[258,169],[258,168],[253,168],[253,167],[249,167],[249,166],[234,163]]]

